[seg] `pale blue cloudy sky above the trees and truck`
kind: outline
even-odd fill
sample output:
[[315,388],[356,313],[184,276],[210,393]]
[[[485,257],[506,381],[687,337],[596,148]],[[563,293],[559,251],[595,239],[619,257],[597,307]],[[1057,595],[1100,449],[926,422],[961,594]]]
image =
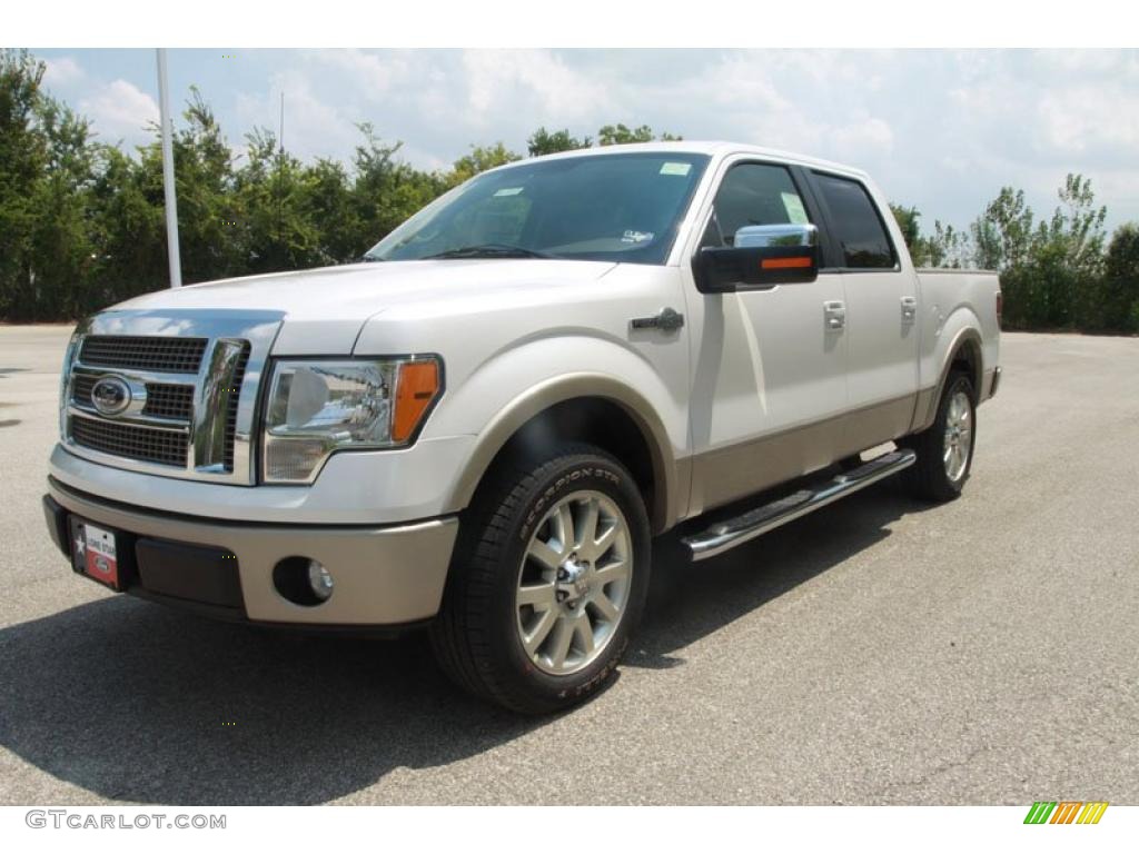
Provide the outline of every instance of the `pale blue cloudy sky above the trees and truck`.
[[[131,148],[158,117],[155,54],[33,50],[44,85]],[[524,153],[540,125],[595,136],[648,124],[867,170],[900,204],[965,227],[1002,186],[1038,216],[1068,172],[1089,176],[1109,229],[1139,221],[1137,50],[216,50],[167,54],[172,105],[191,85],[240,150],[255,126],[302,159],[347,162],[370,122],[424,167],[472,143]]]

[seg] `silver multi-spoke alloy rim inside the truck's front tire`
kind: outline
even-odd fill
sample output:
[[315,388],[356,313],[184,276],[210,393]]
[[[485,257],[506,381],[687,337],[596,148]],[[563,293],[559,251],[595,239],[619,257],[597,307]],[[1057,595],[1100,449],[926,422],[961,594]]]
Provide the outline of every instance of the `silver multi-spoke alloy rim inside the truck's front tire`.
[[597,660],[629,602],[632,541],[611,498],[566,495],[542,518],[518,570],[518,638],[543,673],[567,676]]

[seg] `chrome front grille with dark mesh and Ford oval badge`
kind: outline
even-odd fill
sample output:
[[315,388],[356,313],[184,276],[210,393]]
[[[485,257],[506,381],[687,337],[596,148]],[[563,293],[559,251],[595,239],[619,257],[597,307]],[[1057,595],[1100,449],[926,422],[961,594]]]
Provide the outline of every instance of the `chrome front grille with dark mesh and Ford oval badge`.
[[[64,373],[65,446],[103,465],[166,477],[252,484],[257,386],[279,312],[109,311],[76,329]],[[125,386],[100,411],[100,379]],[[112,394],[112,400],[115,395]]]

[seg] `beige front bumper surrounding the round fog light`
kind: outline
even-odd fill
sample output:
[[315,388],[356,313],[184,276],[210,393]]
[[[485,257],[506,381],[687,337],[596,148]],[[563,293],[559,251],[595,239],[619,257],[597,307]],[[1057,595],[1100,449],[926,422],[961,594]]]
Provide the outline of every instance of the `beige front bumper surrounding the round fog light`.
[[[228,549],[237,557],[246,616],[253,621],[302,625],[394,625],[439,611],[458,519],[443,518],[387,527],[282,527],[212,523],[107,506],[49,483],[51,496],[93,523],[141,536]],[[331,573],[328,601],[294,605],[273,588],[281,558],[319,560]]]

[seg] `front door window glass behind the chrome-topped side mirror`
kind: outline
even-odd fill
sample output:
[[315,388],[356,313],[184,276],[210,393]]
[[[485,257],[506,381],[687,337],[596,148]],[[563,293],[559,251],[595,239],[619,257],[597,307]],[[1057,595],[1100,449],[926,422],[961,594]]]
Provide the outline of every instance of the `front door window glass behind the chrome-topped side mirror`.
[[785,166],[740,163],[732,166],[716,192],[704,246],[734,246],[745,225],[812,222]]

